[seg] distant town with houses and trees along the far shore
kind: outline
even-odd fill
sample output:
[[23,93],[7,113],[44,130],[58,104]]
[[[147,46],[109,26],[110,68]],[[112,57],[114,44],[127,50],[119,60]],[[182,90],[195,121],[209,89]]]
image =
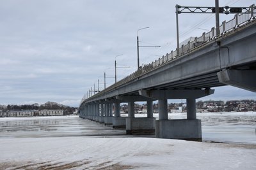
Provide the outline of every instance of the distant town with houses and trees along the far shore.
[[[135,103],[135,113],[147,113],[147,103]],[[114,108],[113,108],[114,110]],[[128,104],[122,103],[121,113],[128,113]],[[221,111],[256,111],[256,101],[254,100],[234,100],[234,101],[198,101],[196,102],[196,112],[221,112]],[[153,104],[153,112],[158,113],[158,103]],[[186,103],[169,103],[168,113],[186,112]],[[76,115],[77,108],[65,106],[54,102],[45,104],[25,104],[25,105],[0,105],[0,117],[36,117],[36,116],[60,116]]]

